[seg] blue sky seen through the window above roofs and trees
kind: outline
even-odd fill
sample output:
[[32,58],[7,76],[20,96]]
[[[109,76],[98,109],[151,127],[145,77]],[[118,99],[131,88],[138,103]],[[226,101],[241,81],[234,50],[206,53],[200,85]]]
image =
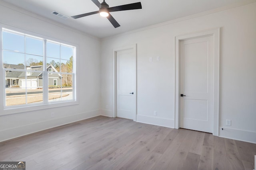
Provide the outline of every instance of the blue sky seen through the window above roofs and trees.
[[[3,63],[26,64],[43,61],[44,40],[36,37],[25,37],[7,31],[2,31]],[[73,48],[57,43],[46,42],[46,55],[48,61],[66,63],[73,54]],[[51,58],[48,58],[51,57]]]

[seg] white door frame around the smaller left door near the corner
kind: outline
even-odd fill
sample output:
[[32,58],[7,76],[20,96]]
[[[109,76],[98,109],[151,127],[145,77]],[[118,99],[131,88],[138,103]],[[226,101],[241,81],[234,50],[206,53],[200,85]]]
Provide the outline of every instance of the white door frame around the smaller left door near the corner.
[[116,106],[117,106],[117,100],[116,100],[116,53],[118,51],[124,51],[124,50],[128,50],[128,49],[132,49],[133,51],[133,57],[135,57],[136,59],[136,86],[135,86],[135,100],[136,100],[136,109],[135,109],[135,114],[133,115],[133,121],[136,121],[136,115],[137,115],[137,44],[134,45],[128,45],[128,46],[124,46],[124,47],[119,47],[119,48],[114,48],[112,49],[112,117],[116,117]]

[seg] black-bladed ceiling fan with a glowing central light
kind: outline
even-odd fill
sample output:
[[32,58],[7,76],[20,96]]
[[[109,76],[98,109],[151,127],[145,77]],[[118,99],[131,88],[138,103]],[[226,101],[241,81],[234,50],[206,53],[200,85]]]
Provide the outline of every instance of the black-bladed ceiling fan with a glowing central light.
[[103,0],[102,3],[100,3],[98,0],[92,0],[92,2],[99,7],[98,11],[94,12],[89,12],[86,14],[80,14],[77,16],[72,16],[72,18],[77,19],[77,18],[82,18],[85,16],[90,16],[93,14],[98,14],[100,13],[100,16],[108,18],[108,20],[112,23],[112,25],[116,27],[120,27],[119,23],[113,18],[113,16],[110,14],[110,12],[115,12],[115,11],[125,11],[125,10],[137,10],[137,9],[142,9],[141,3],[136,2],[132,4],[126,4],[126,5],[120,5],[120,6],[114,6],[110,7],[109,5]]

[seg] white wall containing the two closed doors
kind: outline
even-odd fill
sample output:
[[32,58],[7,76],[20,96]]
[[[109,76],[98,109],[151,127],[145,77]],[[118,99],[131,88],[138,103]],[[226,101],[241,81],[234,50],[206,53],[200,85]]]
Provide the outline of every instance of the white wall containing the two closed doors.
[[256,3],[103,39],[102,114],[112,116],[112,107],[106,109],[112,106],[112,49],[137,44],[137,121],[174,127],[174,37],[216,27],[221,28],[220,136],[256,143]]

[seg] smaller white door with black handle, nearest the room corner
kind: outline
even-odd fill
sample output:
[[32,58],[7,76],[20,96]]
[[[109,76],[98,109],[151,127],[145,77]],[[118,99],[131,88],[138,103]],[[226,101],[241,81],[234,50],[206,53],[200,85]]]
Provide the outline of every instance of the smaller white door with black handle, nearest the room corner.
[[116,52],[116,116],[136,116],[136,55],[132,49]]

